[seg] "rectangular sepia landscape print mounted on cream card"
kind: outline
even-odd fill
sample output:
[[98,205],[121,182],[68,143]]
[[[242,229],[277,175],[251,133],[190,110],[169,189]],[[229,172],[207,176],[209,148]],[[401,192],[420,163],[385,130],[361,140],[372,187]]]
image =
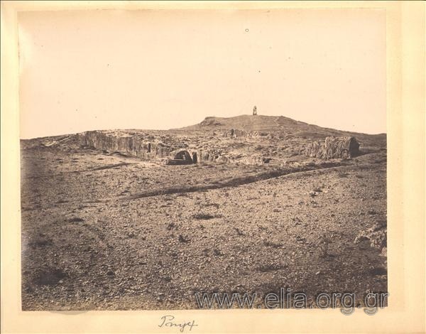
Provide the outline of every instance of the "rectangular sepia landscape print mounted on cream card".
[[18,43],[23,311],[387,305],[385,11],[28,11]]

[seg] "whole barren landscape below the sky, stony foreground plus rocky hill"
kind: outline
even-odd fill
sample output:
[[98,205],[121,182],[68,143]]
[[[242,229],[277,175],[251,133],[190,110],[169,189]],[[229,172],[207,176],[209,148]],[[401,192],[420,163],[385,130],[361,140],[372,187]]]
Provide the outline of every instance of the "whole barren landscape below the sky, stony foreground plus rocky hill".
[[22,308],[195,309],[197,291],[261,303],[283,286],[361,306],[387,291],[386,208],[384,135],[241,116],[21,141]]

